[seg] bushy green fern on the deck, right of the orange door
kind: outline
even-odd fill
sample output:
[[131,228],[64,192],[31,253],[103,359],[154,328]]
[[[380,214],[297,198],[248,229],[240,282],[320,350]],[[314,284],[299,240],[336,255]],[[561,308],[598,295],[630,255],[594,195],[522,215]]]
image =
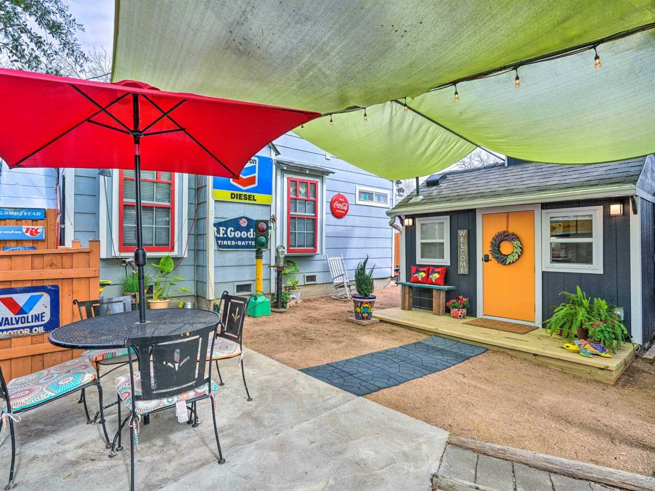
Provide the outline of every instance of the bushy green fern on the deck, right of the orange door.
[[576,293],[563,291],[560,295],[567,297],[568,301],[559,304],[553,316],[544,321],[550,335],[560,335],[565,339],[573,340],[574,337],[586,339],[588,333],[586,325],[591,320],[591,302],[587,295],[576,287]]

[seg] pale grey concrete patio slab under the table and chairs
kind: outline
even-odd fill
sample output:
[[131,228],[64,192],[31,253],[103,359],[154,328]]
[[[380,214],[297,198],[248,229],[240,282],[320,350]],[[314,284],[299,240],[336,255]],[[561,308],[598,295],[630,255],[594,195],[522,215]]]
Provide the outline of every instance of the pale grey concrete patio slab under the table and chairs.
[[[136,488],[165,490],[418,490],[428,489],[447,432],[356,397],[252,351],[246,401],[236,360],[221,363],[217,422],[227,460],[218,465],[211,410],[203,401],[198,428],[175,411],[141,424]],[[119,371],[117,371],[119,372]],[[103,379],[105,403],[115,397],[113,374]],[[97,407],[93,394],[90,407]],[[100,426],[87,426],[82,405],[66,397],[23,415],[17,429],[16,490],[129,488],[127,451],[107,457]],[[123,411],[123,415],[126,414]],[[109,433],[116,407],[107,413]],[[9,473],[9,446],[0,449],[0,484]]]

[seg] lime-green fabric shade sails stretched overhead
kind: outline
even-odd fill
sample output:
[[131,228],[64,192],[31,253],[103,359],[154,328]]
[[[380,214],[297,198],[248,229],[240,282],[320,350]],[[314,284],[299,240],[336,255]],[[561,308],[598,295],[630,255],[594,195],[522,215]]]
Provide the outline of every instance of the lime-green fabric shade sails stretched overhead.
[[[655,151],[655,31],[431,88],[655,22],[655,2],[117,0],[113,81],[323,113],[296,132],[389,179],[476,145],[538,162]],[[402,110],[392,100],[407,102]]]

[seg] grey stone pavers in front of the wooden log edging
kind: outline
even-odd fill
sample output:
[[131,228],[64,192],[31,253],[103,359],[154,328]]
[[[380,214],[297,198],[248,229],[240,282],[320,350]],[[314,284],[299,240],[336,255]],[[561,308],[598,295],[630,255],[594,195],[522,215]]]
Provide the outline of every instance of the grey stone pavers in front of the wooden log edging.
[[618,491],[447,445],[438,473],[498,491]]

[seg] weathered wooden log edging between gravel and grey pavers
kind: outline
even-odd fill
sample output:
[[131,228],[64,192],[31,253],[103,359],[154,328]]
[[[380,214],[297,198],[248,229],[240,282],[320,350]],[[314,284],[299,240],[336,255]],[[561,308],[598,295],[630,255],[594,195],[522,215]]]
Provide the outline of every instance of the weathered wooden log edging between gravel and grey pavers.
[[[655,479],[641,474],[634,474],[626,471],[618,471],[600,465],[586,464],[576,460],[568,460],[552,455],[538,454],[529,450],[519,450],[508,446],[484,443],[468,438],[450,435],[448,443],[457,445],[479,454],[491,457],[510,460],[525,464],[535,469],[548,471],[555,474],[563,474],[576,479],[598,482],[615,488],[622,488],[631,491],[655,491]],[[466,489],[466,488],[462,488]],[[476,488],[472,488],[476,489]]]

